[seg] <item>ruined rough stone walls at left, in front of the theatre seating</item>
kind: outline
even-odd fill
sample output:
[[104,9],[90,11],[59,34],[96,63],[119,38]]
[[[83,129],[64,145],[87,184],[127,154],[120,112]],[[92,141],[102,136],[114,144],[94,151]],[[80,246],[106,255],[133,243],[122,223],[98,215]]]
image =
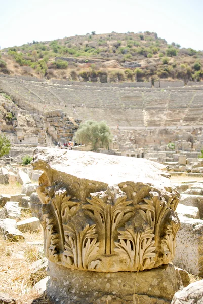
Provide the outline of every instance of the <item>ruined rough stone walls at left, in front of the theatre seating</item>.
[[[11,115],[11,118],[9,117]],[[80,120],[71,119],[62,110],[46,112],[44,115],[21,109],[12,100],[0,95],[0,132],[12,144],[50,145],[53,142],[67,142],[78,129]]]

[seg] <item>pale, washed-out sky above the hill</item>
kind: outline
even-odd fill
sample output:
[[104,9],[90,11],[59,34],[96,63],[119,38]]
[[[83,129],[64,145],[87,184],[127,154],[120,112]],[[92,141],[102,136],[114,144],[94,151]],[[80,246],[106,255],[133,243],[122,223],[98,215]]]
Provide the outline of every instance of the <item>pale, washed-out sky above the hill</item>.
[[0,0],[0,46],[87,32],[154,31],[203,50],[203,0]]

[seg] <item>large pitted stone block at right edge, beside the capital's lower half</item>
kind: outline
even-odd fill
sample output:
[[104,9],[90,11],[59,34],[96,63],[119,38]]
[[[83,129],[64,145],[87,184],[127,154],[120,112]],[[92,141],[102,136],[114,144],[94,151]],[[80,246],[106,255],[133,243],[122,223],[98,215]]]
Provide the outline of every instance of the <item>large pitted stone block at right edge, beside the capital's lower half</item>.
[[189,273],[203,275],[203,220],[180,217],[177,233],[175,265]]

